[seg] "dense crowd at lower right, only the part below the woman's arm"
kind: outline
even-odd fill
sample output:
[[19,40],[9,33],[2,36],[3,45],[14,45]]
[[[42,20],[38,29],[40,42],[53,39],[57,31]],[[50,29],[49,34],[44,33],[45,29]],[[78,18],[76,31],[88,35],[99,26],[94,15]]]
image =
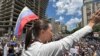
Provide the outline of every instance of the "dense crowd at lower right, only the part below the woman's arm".
[[100,40],[82,38],[74,43],[67,56],[100,56]]

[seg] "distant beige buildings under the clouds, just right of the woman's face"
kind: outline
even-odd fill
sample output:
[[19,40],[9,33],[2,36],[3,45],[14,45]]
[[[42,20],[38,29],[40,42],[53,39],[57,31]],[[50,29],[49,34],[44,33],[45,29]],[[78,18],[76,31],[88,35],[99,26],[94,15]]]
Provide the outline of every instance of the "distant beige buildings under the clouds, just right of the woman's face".
[[56,21],[55,18],[49,18],[50,23],[52,24],[52,31],[54,35],[56,34],[65,34],[67,31],[67,26],[65,24],[62,24],[59,21]]

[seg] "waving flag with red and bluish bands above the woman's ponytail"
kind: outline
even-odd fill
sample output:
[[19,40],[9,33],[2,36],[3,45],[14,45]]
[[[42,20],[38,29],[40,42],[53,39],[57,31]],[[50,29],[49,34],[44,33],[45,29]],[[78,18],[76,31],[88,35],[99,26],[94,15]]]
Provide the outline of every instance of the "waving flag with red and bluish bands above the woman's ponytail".
[[35,15],[28,7],[24,7],[17,19],[14,35],[21,36],[25,24],[35,19],[38,19],[38,16]]

